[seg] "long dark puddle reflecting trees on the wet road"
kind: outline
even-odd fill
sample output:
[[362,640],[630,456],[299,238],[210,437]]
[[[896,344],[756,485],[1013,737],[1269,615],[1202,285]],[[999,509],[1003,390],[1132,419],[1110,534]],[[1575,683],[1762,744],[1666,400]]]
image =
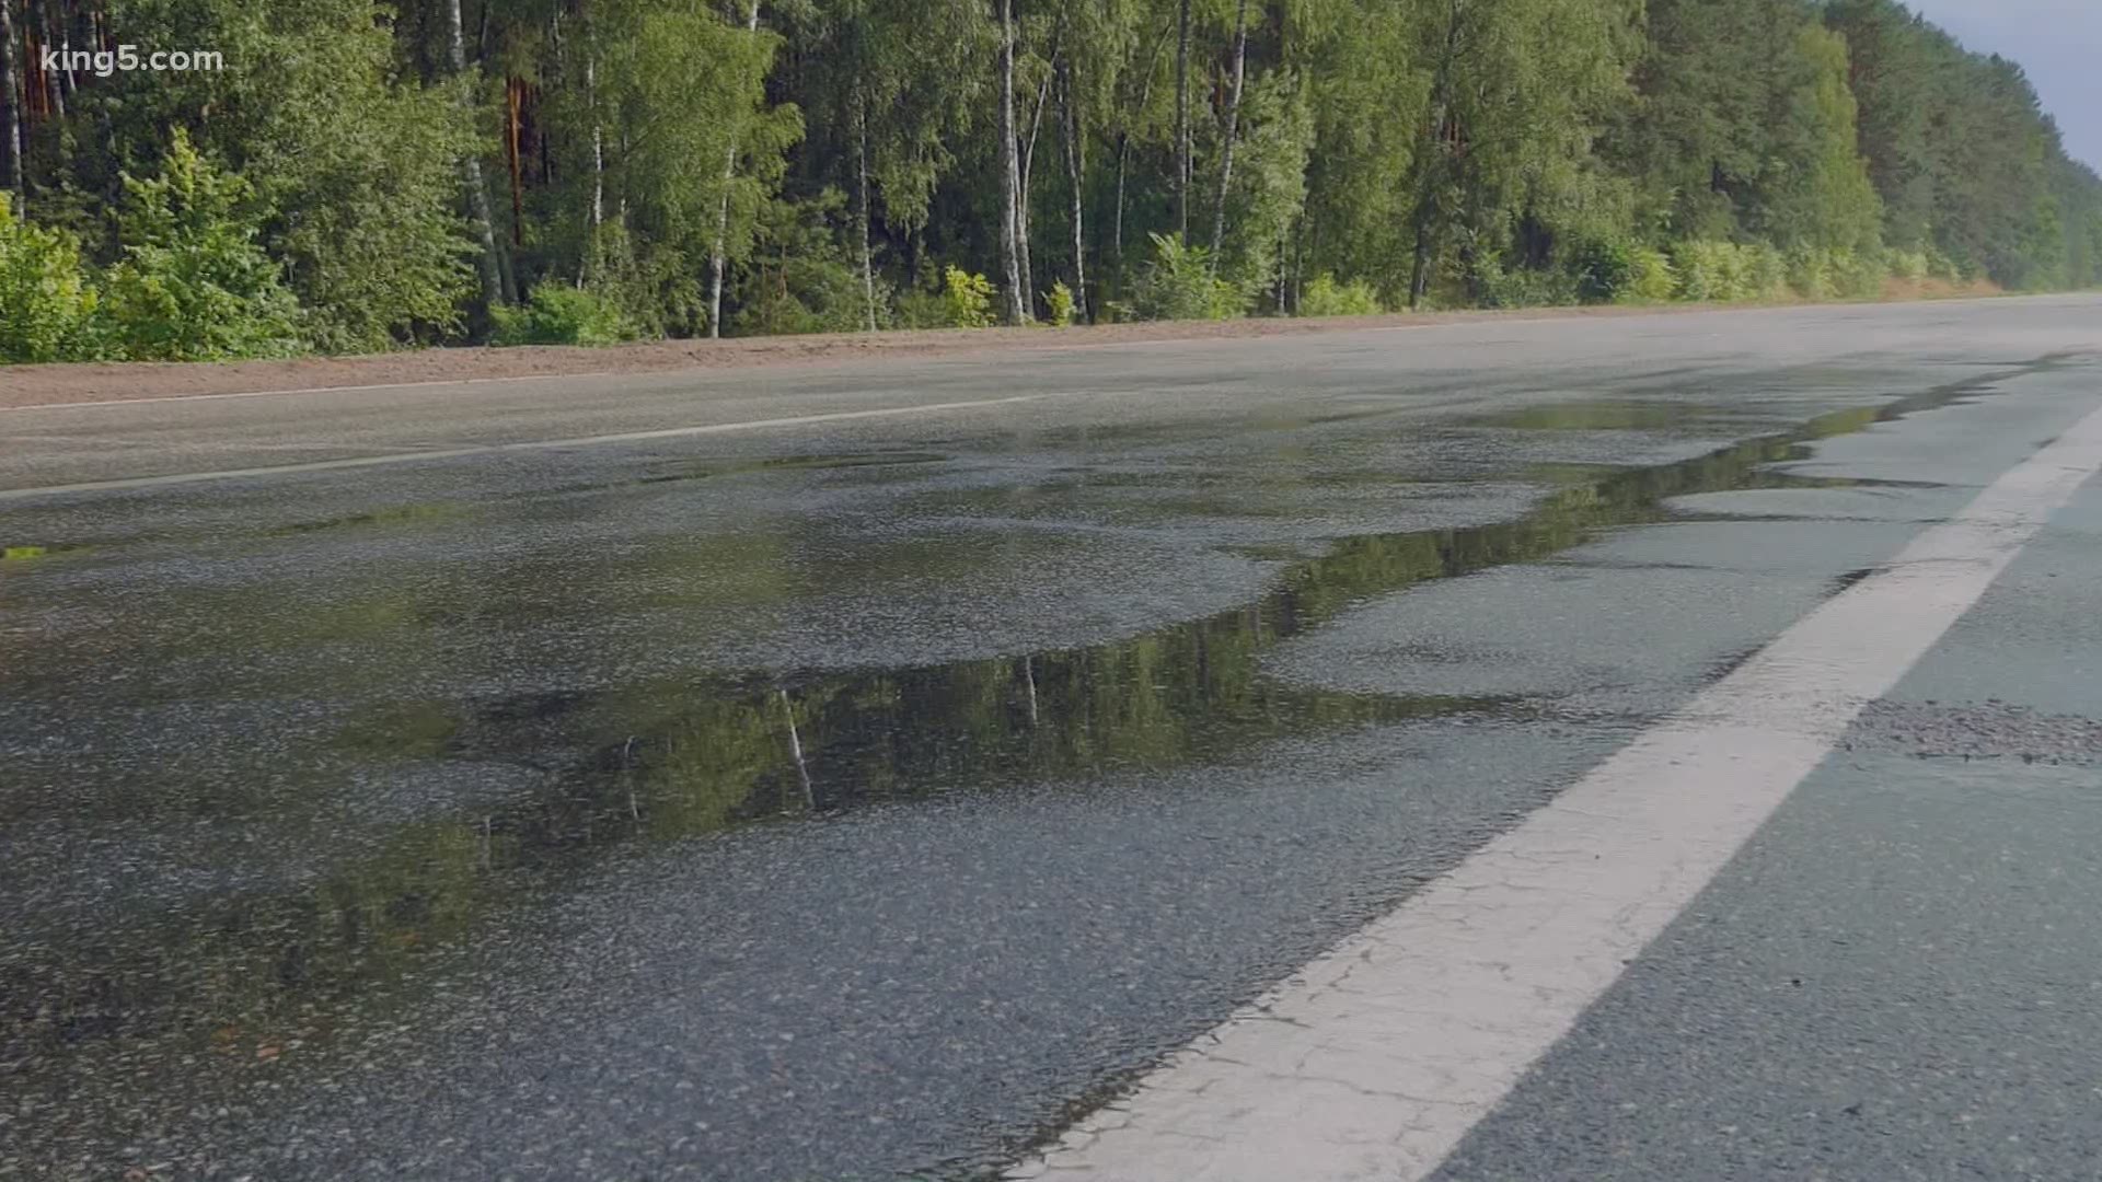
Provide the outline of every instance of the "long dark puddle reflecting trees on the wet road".
[[458,944],[521,900],[559,892],[622,845],[1015,782],[1228,761],[1310,732],[1461,713],[1522,717],[1526,707],[1511,700],[1284,686],[1261,675],[1261,656],[1368,597],[1667,519],[1673,496],[1829,488],[1768,465],[1808,456],[1808,442],[1982,389],[1946,387],[1684,463],[1558,482],[1507,524],[1343,538],[1289,566],[1259,602],[1116,644],[359,713],[341,728],[341,751],[437,766],[532,763],[559,751],[576,772],[523,801],[404,822],[317,885],[221,892],[153,917],[114,915],[63,946],[11,953],[0,961],[0,1049],[25,1073],[90,1043],[174,1039],[193,1052],[240,1043],[254,1054],[256,1039],[357,1005],[425,951]]

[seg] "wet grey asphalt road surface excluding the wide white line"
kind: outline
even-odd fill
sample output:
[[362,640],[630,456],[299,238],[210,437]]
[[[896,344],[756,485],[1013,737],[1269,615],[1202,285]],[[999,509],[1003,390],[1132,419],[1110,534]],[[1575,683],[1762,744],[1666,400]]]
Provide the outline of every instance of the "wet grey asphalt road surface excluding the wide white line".
[[[0,412],[0,1178],[980,1176],[2098,351],[2039,299]],[[1448,1176],[2094,1178],[2098,589],[2089,486]]]

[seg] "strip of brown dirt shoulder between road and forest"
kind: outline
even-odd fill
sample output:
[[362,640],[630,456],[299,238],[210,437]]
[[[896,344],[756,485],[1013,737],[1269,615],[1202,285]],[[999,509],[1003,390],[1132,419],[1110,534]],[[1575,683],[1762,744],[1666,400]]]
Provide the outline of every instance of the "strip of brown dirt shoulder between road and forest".
[[[1944,294],[1944,292],[1936,292]],[[1959,294],[1959,292],[1946,292]],[[1970,292],[1961,292],[1970,294]],[[740,337],[731,341],[647,341],[610,349],[420,349],[364,358],[294,358],[227,364],[67,364],[0,366],[0,408],[67,406],[263,393],[294,389],[399,387],[490,379],[658,374],[746,366],[839,364],[879,358],[942,358],[996,349],[1085,349],[1141,341],[1299,337],[1360,328],[1423,328],[1476,320],[1572,320],[1621,315],[1696,315],[1747,305],[1560,307],[1520,311],[1440,311],[1326,320],[1219,320],[1106,324],[1097,328],[902,330],[822,337]]]

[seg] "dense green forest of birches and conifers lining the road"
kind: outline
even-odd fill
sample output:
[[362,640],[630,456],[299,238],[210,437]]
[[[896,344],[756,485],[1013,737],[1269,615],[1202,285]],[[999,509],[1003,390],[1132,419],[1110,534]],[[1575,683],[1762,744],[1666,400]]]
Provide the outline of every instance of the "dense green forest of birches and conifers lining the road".
[[4,362],[2102,286],[2020,65],[1896,0],[0,0],[0,46]]

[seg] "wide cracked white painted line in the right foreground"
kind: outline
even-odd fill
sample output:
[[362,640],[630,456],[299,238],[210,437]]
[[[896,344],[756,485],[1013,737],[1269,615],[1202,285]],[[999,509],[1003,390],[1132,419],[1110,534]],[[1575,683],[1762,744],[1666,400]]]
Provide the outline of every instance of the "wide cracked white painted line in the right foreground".
[[2102,410],[1009,1178],[1425,1178],[2098,469]]

